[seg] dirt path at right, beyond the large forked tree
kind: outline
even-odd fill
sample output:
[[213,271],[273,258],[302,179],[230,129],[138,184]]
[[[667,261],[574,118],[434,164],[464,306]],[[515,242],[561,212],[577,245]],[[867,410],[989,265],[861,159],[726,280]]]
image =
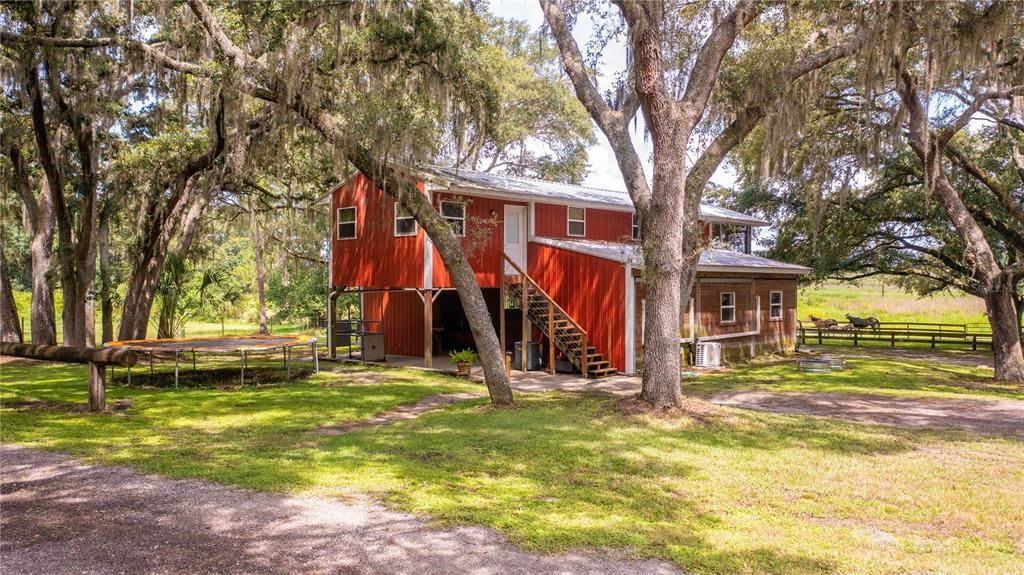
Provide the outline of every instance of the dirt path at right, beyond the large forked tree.
[[1024,401],[908,398],[844,393],[723,392],[713,403],[905,428],[962,429],[1024,438]]

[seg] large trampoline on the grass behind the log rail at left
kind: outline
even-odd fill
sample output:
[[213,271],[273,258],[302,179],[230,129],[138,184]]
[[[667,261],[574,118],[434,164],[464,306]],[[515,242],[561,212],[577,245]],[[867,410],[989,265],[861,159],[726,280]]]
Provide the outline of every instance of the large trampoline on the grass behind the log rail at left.
[[[292,377],[292,350],[309,346],[312,354],[313,372],[319,373],[319,358],[316,355],[316,338],[309,336],[209,336],[198,338],[168,338],[161,340],[121,340],[108,342],[103,347],[130,349],[150,358],[150,374],[153,374],[153,360],[158,354],[174,355],[174,387],[178,387],[181,355],[190,354],[193,372],[196,372],[196,354],[239,354],[241,356],[241,382],[246,383],[246,367],[252,353],[273,353],[281,351],[288,379]],[[128,368],[128,383],[131,384],[131,368]]]

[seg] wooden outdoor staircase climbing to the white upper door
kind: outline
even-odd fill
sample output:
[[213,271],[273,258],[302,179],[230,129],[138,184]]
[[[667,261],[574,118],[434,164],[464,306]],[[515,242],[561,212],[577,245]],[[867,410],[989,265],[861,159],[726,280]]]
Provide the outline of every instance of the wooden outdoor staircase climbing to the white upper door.
[[[504,271],[505,301],[502,305],[514,309],[525,308],[526,319],[541,330],[555,348],[575,365],[585,378],[603,378],[616,372],[611,362],[590,345],[587,331],[580,326],[526,272],[509,257],[505,261],[515,271]],[[523,351],[525,353],[525,350]],[[554,354],[549,354],[549,363]],[[553,368],[553,365],[549,366]]]

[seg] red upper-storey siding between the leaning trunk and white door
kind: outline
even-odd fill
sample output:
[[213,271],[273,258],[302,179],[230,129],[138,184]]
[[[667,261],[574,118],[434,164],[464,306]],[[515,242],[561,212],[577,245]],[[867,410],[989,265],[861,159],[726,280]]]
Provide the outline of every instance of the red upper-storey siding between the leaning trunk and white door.
[[[440,202],[443,200],[466,203],[466,236],[462,238],[463,250],[466,251],[469,265],[476,272],[476,281],[480,288],[499,288],[501,285],[499,270],[502,269],[502,252],[505,249],[505,206],[525,206],[525,204],[492,197],[437,193],[434,197],[434,207],[440,209]],[[452,276],[436,249],[433,259],[433,286],[454,288]]]

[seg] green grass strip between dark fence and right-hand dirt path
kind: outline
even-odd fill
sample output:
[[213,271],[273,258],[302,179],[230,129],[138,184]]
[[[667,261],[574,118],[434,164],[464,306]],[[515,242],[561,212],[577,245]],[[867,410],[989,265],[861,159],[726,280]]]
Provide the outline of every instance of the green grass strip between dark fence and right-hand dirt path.
[[[683,391],[709,395],[726,389],[762,389],[778,392],[1024,400],[1024,388],[993,382],[990,367],[958,365],[951,361],[938,362],[925,358],[879,356],[865,349],[829,347],[827,351],[846,357],[847,368],[830,373],[810,373],[798,371],[796,361],[792,358],[766,358],[735,366],[727,372],[708,373],[685,380]],[[968,354],[959,356],[967,363],[970,363],[971,357],[979,357]]]

